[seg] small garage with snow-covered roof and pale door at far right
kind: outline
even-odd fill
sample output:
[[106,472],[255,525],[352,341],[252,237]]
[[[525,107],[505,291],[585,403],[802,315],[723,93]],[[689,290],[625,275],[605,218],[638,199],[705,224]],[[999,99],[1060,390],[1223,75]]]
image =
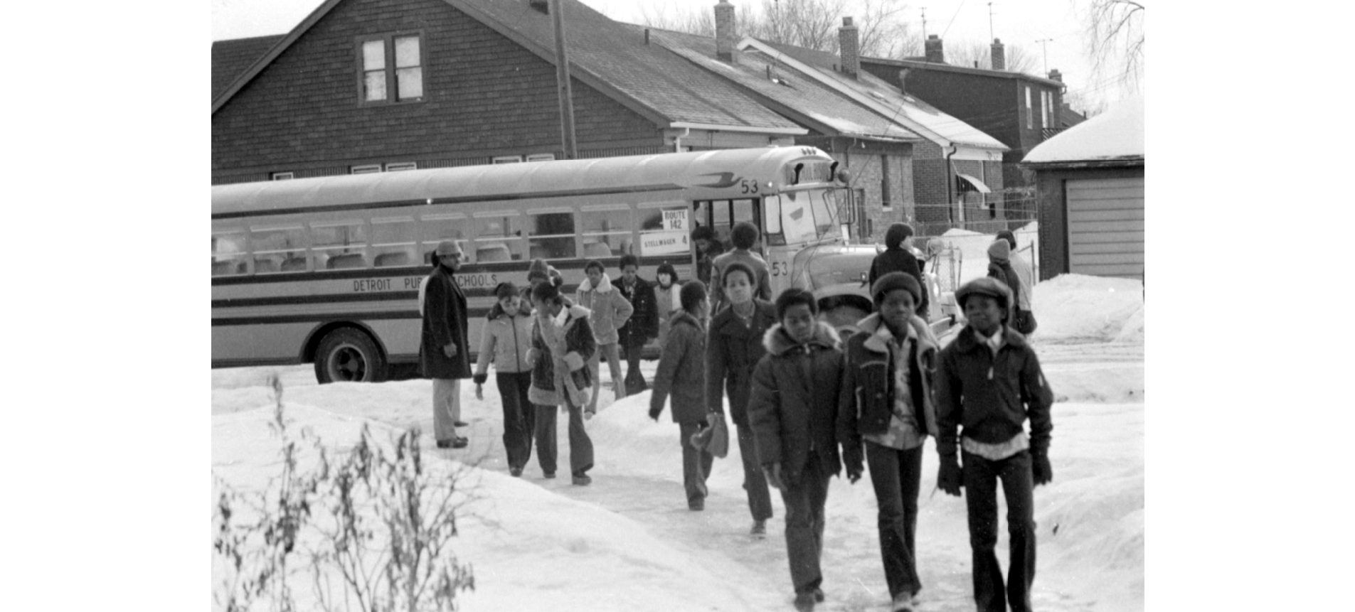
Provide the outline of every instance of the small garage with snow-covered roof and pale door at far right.
[[1125,100],[1026,156],[1039,198],[1041,279],[1144,278],[1144,99]]

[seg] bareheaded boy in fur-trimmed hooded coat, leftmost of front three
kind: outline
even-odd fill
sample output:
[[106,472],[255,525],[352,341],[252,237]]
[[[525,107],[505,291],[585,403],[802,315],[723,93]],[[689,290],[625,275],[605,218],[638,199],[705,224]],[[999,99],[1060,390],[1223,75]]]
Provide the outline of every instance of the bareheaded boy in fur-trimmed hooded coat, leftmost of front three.
[[767,482],[786,502],[786,551],[795,608],[824,600],[820,558],[828,479],[841,471],[836,421],[846,362],[837,332],[814,315],[814,295],[789,288],[776,298],[776,318],[753,370],[748,424]]

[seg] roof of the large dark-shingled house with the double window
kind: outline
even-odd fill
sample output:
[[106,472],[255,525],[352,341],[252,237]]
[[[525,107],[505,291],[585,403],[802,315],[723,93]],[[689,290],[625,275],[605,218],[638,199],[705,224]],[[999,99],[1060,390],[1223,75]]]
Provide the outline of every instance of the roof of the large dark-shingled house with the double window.
[[[325,1],[283,41],[266,49],[262,60],[233,79],[220,97],[213,96],[213,114],[341,1]],[[531,8],[526,1],[443,1],[554,64],[556,42],[550,15]],[[570,76],[650,121],[664,127],[720,126],[745,131],[805,133],[804,127],[772,112],[732,83],[717,79],[667,49],[645,45],[642,34],[607,19],[587,4],[560,0],[558,5],[564,7]],[[215,76],[213,80],[215,81]]]

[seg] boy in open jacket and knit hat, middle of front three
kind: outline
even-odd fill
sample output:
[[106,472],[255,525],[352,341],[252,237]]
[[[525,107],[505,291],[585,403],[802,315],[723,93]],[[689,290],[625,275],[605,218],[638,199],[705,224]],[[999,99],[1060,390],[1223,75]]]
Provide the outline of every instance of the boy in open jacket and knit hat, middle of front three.
[[870,463],[879,508],[879,554],[893,609],[912,612],[917,578],[917,491],[923,443],[936,433],[932,372],[936,338],[913,306],[921,286],[890,272],[870,290],[875,313],[847,340],[847,368],[837,406],[837,440],[847,478],[856,482]]

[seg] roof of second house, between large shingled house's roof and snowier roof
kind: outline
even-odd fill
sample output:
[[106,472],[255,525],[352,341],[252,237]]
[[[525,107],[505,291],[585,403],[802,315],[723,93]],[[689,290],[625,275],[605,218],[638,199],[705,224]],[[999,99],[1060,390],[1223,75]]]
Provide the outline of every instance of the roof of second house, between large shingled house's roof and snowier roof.
[[[642,35],[644,26],[625,24]],[[733,64],[715,58],[715,39],[698,34],[649,28],[650,38],[706,70],[749,91],[776,111],[827,135],[917,142],[908,127],[843,96],[785,62],[763,53],[737,53]]]

